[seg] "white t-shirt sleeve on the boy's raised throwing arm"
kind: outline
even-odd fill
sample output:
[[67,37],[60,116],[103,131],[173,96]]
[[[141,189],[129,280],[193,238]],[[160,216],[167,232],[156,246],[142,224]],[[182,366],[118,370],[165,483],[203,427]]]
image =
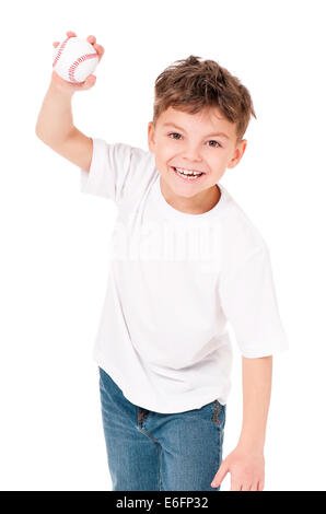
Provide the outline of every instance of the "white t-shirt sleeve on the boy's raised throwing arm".
[[132,147],[108,144],[97,138],[92,140],[91,167],[89,172],[80,168],[80,190],[118,202],[130,171]]

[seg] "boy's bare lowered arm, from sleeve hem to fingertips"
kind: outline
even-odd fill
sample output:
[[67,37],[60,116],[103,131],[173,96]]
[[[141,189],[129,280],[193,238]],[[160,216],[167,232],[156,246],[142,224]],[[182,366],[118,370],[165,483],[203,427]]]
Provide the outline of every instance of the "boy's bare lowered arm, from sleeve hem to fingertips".
[[212,487],[218,487],[230,472],[232,491],[264,489],[264,444],[271,394],[271,372],[272,355],[242,358],[242,431],[237,446],[222,462]]

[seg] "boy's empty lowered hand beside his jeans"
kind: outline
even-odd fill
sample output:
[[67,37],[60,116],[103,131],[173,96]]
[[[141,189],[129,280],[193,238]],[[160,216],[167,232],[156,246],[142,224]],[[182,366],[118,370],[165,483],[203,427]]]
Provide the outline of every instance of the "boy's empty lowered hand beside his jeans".
[[263,453],[253,453],[236,446],[222,462],[211,487],[219,487],[228,472],[231,474],[231,491],[263,491],[265,484]]

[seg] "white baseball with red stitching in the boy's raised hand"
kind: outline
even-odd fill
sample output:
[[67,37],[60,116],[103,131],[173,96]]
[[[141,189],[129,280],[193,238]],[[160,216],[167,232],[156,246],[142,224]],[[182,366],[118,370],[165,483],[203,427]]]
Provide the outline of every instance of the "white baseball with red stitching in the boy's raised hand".
[[89,42],[81,37],[67,37],[55,49],[53,69],[61,79],[75,84],[84,82],[93,73],[98,60]]

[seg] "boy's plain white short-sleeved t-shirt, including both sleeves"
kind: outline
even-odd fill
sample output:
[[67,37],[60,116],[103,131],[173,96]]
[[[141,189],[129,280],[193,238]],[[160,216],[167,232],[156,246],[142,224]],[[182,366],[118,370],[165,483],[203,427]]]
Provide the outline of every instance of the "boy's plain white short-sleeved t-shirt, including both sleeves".
[[117,206],[94,360],[148,410],[225,405],[229,323],[246,358],[288,348],[261,235],[221,184],[203,214],[170,206],[149,151],[93,138],[80,172],[82,192]]

